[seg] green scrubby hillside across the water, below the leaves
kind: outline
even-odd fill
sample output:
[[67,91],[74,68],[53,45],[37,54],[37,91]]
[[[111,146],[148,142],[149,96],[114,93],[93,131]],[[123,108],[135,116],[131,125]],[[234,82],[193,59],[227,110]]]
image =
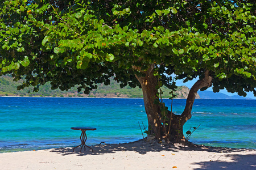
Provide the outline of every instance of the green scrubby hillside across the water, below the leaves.
[[[142,98],[142,90],[131,87],[120,88],[117,82],[112,81],[109,86],[104,84],[98,84],[98,89],[90,92],[89,95],[83,94],[83,92],[77,92],[76,88],[72,88],[69,91],[51,90],[51,84],[46,83],[44,86],[40,86],[38,92],[32,92],[33,87],[26,88],[24,90],[16,90],[16,87],[19,86],[22,82],[13,82],[13,78],[10,76],[1,76],[0,77],[0,96],[52,96],[52,97],[137,97]],[[163,98],[171,97],[168,88],[162,88],[164,94]],[[174,92],[177,95],[176,98],[187,99],[189,88],[185,86],[180,86],[177,88],[177,91]],[[199,99],[199,96],[197,96]]]

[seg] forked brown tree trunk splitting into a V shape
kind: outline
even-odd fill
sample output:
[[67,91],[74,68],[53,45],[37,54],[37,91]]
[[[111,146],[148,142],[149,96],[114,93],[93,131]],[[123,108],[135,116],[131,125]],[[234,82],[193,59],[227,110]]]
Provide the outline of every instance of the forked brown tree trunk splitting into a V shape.
[[[185,142],[183,125],[191,118],[191,111],[197,91],[200,90],[200,88],[210,87],[212,85],[212,77],[209,76],[209,71],[205,71],[205,78],[197,80],[189,91],[183,113],[181,115],[176,115],[168,111],[167,117],[169,120],[165,122],[163,122],[162,115],[160,114],[160,104],[158,104],[158,90],[155,88],[158,84],[158,80],[153,74],[154,65],[151,65],[150,68],[143,73],[145,74],[144,76],[135,76],[142,86],[144,107],[147,113],[149,130],[151,130],[151,133],[154,134],[159,141],[166,139],[167,141],[175,143]],[[158,100],[158,102],[155,102],[155,100]],[[168,126],[164,127],[163,124],[168,124]],[[171,127],[169,127],[170,124]]]

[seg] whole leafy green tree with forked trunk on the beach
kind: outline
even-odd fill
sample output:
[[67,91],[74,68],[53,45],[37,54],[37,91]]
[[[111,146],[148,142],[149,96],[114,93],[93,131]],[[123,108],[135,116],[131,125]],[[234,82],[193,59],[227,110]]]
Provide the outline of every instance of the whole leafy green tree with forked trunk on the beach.
[[[0,74],[18,89],[51,82],[88,94],[97,83],[139,86],[151,134],[184,142],[198,90],[256,96],[254,1],[1,1]],[[199,80],[184,112],[164,106],[160,87]]]

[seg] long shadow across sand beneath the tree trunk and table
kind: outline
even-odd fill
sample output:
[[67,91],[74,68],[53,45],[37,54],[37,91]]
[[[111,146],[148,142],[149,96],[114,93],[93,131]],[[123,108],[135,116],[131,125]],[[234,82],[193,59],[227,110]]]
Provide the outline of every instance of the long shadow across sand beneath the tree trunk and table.
[[223,148],[223,147],[210,147],[204,145],[194,145],[191,143],[189,146],[183,145],[173,145],[172,143],[166,143],[163,145],[162,143],[157,142],[144,142],[143,139],[135,142],[122,143],[122,144],[112,144],[112,145],[94,145],[90,146],[93,148],[94,152],[90,150],[90,148],[86,147],[82,148],[80,152],[80,148],[75,148],[75,152],[73,152],[73,148],[53,148],[51,152],[57,152],[61,155],[73,155],[77,156],[83,155],[104,155],[111,154],[118,151],[135,151],[139,154],[147,154],[147,152],[160,152],[160,151],[172,151],[179,152],[179,150],[184,151],[207,151],[207,152],[217,152],[217,153],[229,153],[229,152],[245,152],[250,151],[250,149],[242,148]]

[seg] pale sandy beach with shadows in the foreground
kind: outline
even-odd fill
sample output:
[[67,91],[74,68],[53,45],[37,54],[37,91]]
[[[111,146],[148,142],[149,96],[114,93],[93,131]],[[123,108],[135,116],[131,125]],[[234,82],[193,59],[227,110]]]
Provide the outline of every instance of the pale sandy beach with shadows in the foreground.
[[1,169],[256,169],[256,150],[144,141],[0,154]]

